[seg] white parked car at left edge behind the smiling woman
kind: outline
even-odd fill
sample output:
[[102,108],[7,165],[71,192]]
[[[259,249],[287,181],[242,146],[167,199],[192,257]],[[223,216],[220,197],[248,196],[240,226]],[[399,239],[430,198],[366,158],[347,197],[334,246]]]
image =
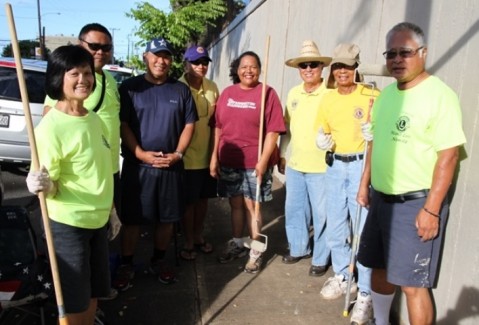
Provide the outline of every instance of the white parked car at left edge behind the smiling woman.
[[[42,118],[47,62],[22,59],[33,126]],[[0,58],[0,162],[30,164],[30,145],[13,58]]]

